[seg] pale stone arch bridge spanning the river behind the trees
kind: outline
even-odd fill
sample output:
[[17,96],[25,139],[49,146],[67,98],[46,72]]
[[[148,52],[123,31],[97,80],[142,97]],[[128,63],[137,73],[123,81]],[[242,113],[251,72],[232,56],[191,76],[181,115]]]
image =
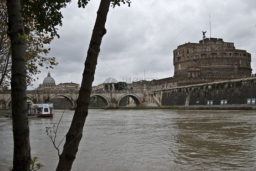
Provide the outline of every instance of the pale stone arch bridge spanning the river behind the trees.
[[[66,98],[72,108],[76,107],[76,101],[79,91],[27,91],[27,99],[36,103],[48,103],[53,98]],[[105,107],[118,107],[123,97],[131,97],[136,106],[160,106],[159,98],[154,97],[154,91],[138,90],[138,91],[113,91],[113,92],[92,92],[91,96],[97,96],[102,99]],[[9,109],[11,102],[11,91],[0,91],[0,109]]]

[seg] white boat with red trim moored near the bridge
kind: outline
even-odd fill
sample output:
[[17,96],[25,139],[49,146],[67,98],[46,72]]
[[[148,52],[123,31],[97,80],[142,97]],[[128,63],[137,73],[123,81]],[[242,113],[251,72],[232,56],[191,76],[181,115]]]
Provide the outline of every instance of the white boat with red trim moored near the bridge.
[[53,117],[53,103],[39,103],[32,105],[34,114],[37,117]]

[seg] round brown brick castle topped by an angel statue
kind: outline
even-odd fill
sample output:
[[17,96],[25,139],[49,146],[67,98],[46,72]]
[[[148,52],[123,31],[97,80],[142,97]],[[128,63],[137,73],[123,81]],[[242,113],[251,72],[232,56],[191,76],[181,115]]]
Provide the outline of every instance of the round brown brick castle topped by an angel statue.
[[199,43],[185,43],[173,51],[173,81],[178,86],[251,77],[250,53],[203,35]]

